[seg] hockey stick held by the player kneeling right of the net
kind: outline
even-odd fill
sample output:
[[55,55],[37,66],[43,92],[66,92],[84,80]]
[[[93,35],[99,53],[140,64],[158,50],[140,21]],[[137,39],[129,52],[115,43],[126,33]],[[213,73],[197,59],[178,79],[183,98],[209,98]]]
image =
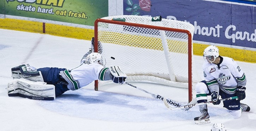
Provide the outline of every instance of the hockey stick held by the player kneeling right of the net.
[[[232,99],[238,99],[237,96],[235,97],[229,97],[229,98],[225,98],[225,99],[219,99],[220,101],[225,101],[225,100],[232,100]],[[179,106],[179,107],[171,107],[168,105],[168,100],[167,99],[163,99],[163,102],[165,103],[165,106],[170,109],[170,110],[175,110],[175,109],[182,109],[182,110],[189,110],[194,106],[197,105],[203,105],[203,104],[207,104],[207,103],[213,103],[213,101],[206,101],[206,102],[202,102],[202,103],[196,103],[196,104],[188,104],[188,105],[183,105],[183,106]]]

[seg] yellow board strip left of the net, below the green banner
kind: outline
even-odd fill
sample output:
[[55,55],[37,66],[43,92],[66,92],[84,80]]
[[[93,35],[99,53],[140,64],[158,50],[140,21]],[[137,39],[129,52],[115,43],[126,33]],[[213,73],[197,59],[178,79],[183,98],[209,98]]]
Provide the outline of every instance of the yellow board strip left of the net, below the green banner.
[[[5,18],[0,19],[0,28],[32,33],[43,33],[43,22]],[[91,38],[94,37],[94,30],[91,29],[49,23],[45,24],[45,33],[60,37],[84,40],[91,40]]]

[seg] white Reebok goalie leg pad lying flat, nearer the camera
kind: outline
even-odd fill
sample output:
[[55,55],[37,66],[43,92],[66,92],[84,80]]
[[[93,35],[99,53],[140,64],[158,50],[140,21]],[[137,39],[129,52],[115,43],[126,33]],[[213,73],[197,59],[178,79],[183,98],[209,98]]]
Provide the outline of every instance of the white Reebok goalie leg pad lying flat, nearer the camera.
[[55,86],[42,81],[31,81],[24,78],[14,79],[8,83],[8,96],[20,96],[35,100],[54,100]]

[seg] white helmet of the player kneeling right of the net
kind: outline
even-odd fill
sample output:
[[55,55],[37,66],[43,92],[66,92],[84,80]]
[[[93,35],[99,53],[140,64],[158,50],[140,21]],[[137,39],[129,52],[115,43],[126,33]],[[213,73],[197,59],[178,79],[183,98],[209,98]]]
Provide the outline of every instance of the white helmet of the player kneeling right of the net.
[[218,57],[219,57],[219,49],[214,45],[206,47],[203,51],[204,60],[207,60],[207,61],[209,60],[210,62],[213,62]]

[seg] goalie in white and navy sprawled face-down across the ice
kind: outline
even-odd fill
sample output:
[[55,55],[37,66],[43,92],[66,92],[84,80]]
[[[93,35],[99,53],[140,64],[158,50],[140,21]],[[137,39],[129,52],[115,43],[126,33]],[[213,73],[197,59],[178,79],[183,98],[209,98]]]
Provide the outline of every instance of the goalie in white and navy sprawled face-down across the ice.
[[104,67],[99,53],[88,53],[81,65],[66,68],[34,68],[21,65],[12,69],[13,81],[8,83],[8,96],[20,96],[37,100],[54,100],[68,90],[78,90],[94,80],[112,80],[123,84],[126,74],[118,66]]

